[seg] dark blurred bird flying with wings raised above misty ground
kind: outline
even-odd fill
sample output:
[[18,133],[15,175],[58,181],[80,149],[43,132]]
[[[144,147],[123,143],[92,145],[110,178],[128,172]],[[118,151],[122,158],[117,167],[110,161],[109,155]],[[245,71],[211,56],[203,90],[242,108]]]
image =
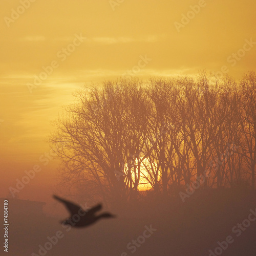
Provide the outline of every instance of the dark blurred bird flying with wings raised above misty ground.
[[102,218],[115,218],[115,216],[109,212],[103,212],[102,214],[95,216],[95,213],[102,208],[101,204],[97,204],[93,208],[84,211],[80,206],[73,204],[70,201],[64,200],[57,196],[53,196],[53,198],[65,204],[66,208],[70,212],[70,217],[61,222],[64,225],[79,228],[89,226]]

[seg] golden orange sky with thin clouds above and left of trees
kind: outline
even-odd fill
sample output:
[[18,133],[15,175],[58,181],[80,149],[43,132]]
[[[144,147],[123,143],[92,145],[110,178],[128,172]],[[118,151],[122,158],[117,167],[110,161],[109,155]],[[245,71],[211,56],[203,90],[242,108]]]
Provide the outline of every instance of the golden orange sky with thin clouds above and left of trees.
[[[201,69],[217,72],[223,66],[240,78],[255,70],[255,1],[124,0],[115,5],[113,0],[112,6],[110,2],[2,1],[0,197],[34,164],[42,171],[19,196],[50,197],[57,162],[44,166],[39,159],[50,150],[51,121],[85,82],[115,79],[132,69],[132,75],[142,78],[195,74]],[[200,10],[191,7],[195,5]],[[15,14],[16,10],[23,13]],[[185,20],[183,14],[194,18]],[[80,41],[75,39],[79,35]],[[145,57],[146,62],[140,61]],[[28,83],[52,63],[52,73],[29,91]]]

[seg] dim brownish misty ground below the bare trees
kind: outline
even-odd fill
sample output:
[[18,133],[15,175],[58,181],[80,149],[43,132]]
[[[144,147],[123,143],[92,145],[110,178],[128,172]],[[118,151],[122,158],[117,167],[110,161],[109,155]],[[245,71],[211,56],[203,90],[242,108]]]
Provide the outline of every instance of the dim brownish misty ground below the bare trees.
[[[118,216],[116,219],[101,220],[91,227],[71,230],[63,228],[59,218],[18,217],[15,213],[9,219],[8,255],[28,256],[34,252],[47,256],[201,256],[209,255],[209,250],[214,251],[218,241],[231,236],[234,242],[228,244],[221,255],[254,256],[256,221],[241,231],[239,237],[239,232],[232,232],[232,228],[248,219],[250,209],[255,211],[255,199],[254,193],[230,189],[196,191],[184,203],[178,194],[175,198],[161,200],[145,198],[137,203],[117,204],[110,210]],[[132,252],[135,247],[130,244],[129,249],[126,246],[143,236],[145,226],[157,230]],[[39,254],[39,245],[44,246],[47,237],[55,236],[59,230],[63,237],[46,254],[44,251]]]

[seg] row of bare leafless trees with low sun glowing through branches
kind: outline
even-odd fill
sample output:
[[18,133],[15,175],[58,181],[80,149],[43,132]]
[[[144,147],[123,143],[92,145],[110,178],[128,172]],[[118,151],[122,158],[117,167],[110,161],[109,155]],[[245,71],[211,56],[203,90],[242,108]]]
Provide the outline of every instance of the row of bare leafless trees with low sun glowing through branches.
[[202,179],[255,188],[254,72],[105,81],[76,99],[51,143],[63,183],[88,200],[137,198],[142,177],[159,195]]

